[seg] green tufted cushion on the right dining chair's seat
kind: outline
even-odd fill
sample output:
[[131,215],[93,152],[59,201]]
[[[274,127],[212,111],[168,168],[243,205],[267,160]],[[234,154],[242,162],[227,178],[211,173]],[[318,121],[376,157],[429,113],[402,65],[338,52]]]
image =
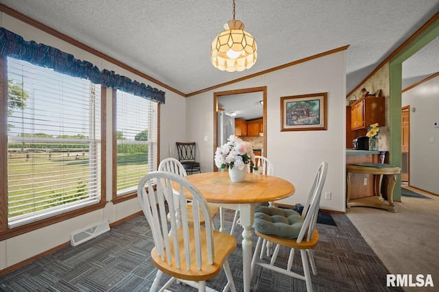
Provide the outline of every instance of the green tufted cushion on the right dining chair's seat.
[[256,206],[253,228],[262,234],[296,239],[303,225],[300,214],[294,210]]

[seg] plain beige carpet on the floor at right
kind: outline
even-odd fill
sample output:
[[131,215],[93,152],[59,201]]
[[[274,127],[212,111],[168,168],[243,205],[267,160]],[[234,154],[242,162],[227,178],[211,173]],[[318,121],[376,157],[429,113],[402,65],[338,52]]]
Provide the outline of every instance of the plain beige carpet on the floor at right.
[[406,187],[432,199],[402,197],[396,213],[352,207],[346,215],[390,273],[431,274],[434,288],[404,287],[404,291],[439,291],[439,197]]

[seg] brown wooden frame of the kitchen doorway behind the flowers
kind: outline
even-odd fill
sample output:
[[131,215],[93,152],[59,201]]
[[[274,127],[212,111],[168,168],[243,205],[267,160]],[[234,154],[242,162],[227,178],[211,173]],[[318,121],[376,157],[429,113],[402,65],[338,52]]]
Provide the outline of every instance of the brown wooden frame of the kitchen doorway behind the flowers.
[[[213,93],[213,156],[215,156],[215,151],[218,146],[218,99],[220,97],[224,97],[226,95],[236,95],[236,103],[240,104],[242,108],[246,107],[246,103],[244,102],[244,97],[246,93],[262,93],[262,114],[263,114],[263,145],[262,145],[262,153],[263,156],[267,156],[267,86],[261,87],[252,87],[252,88],[244,88],[237,90],[228,90],[228,91],[220,91],[217,93]],[[213,171],[217,171],[217,167],[213,164]]]

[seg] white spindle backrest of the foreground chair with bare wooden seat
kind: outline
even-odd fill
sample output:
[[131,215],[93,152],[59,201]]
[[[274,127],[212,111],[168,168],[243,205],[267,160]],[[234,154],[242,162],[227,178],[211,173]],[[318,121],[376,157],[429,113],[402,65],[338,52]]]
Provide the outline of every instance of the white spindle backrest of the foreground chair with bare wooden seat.
[[[156,184],[156,195],[154,195],[154,184]],[[178,228],[176,223],[174,199],[166,200],[167,197],[174,196],[173,188],[178,190],[178,193],[184,194],[177,196],[180,204],[181,228]],[[188,223],[188,212],[186,209],[188,195],[191,196],[193,209],[198,210],[199,208],[200,212],[204,215],[205,229],[200,229],[200,214],[198,212],[193,212],[193,226]],[[153,171],[141,178],[137,187],[137,197],[147,222],[151,227],[156,252],[160,255],[161,260],[167,260],[169,265],[175,262],[178,268],[180,268],[180,265],[183,265],[188,269],[193,269],[194,272],[200,270],[203,261],[208,260],[209,264],[213,265],[214,246],[211,214],[206,199],[204,199],[196,186],[193,186],[186,178],[175,173]],[[167,201],[167,204],[165,204],[165,201]],[[166,218],[167,206],[171,216],[171,228],[169,228]],[[172,241],[169,240],[170,238]],[[178,244],[179,241],[184,243],[181,249]],[[206,242],[205,251],[201,250],[202,241]],[[197,255],[195,258],[191,258],[191,249],[195,249],[195,254]],[[185,264],[183,264],[184,262]]]

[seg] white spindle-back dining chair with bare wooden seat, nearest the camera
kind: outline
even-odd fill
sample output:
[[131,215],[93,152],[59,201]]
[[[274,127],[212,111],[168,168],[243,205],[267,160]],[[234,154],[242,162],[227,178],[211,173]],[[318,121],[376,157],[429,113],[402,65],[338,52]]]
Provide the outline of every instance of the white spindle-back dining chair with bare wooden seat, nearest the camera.
[[[199,212],[188,212],[187,195],[190,195],[194,210]],[[171,279],[161,291],[167,291],[176,280],[198,288],[198,291],[206,291],[206,280],[217,276],[222,268],[227,278],[223,291],[236,291],[227,258],[235,250],[237,241],[230,234],[213,230],[206,199],[198,188],[183,176],[153,171],[141,178],[137,197],[154,239],[151,260],[158,271],[150,291],[158,289],[164,273]],[[181,211],[180,226],[177,226],[176,208]],[[168,209],[170,223],[166,219]],[[201,217],[205,220],[204,227],[201,227]]]

